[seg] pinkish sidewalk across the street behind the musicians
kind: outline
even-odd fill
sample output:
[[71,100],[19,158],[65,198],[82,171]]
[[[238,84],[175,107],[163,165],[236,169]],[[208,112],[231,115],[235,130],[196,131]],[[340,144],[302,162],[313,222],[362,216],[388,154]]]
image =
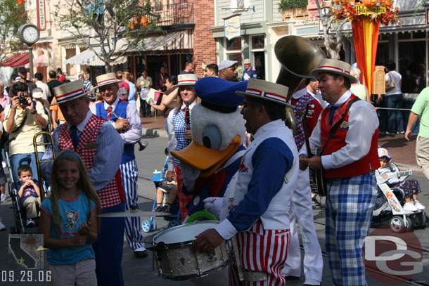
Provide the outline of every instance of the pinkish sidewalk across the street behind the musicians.
[[[140,117],[143,126],[143,136],[167,137],[164,127],[164,117],[158,112],[156,117]],[[421,174],[420,167],[416,163],[416,138],[417,134],[411,136],[411,141],[406,141],[404,134],[380,135],[378,145],[389,151],[390,157],[402,169],[412,169]]]

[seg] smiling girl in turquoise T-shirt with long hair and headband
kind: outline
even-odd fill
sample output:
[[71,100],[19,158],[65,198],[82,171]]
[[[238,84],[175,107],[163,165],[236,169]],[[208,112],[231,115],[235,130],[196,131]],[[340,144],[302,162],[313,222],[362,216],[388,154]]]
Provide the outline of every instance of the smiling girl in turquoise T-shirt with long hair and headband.
[[41,211],[51,285],[97,285],[91,245],[97,240],[100,202],[77,153],[64,151],[56,157],[51,195],[41,203]]

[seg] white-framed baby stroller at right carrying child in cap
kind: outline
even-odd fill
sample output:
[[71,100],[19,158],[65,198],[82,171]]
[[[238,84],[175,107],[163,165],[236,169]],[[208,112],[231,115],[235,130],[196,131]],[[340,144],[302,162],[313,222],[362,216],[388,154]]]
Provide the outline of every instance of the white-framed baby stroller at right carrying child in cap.
[[376,207],[373,210],[373,220],[371,226],[377,227],[385,223],[390,223],[393,232],[397,233],[404,228],[416,229],[424,228],[427,223],[427,217],[423,210],[407,211],[402,206],[405,202],[404,191],[400,188],[390,188],[388,181],[390,178],[399,178],[404,181],[413,171],[399,171],[395,163],[389,163],[392,173],[383,178],[376,170],[376,179],[378,186]]

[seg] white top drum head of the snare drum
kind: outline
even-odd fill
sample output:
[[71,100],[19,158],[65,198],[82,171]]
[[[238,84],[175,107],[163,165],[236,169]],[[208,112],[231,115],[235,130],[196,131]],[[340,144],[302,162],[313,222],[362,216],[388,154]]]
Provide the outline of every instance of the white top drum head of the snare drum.
[[181,226],[175,226],[174,228],[169,228],[155,235],[153,237],[153,243],[158,244],[164,242],[169,245],[192,241],[195,240],[196,235],[199,235],[209,228],[214,228],[218,224],[219,221],[196,221]]

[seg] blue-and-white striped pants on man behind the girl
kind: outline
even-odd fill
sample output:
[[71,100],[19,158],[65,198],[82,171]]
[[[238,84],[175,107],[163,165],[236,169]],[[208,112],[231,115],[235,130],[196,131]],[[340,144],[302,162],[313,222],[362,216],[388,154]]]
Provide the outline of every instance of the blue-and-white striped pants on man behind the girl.
[[[137,167],[136,160],[120,164],[122,185],[124,186],[125,193],[125,210],[130,209],[132,205],[139,207],[139,197],[137,195],[137,176],[139,175],[139,168]],[[132,231],[134,228],[134,238]],[[134,242],[134,240],[143,241],[144,236],[141,234],[141,223],[139,217],[125,218],[125,236],[127,237],[128,245],[133,250],[139,247],[144,247],[143,242]]]

